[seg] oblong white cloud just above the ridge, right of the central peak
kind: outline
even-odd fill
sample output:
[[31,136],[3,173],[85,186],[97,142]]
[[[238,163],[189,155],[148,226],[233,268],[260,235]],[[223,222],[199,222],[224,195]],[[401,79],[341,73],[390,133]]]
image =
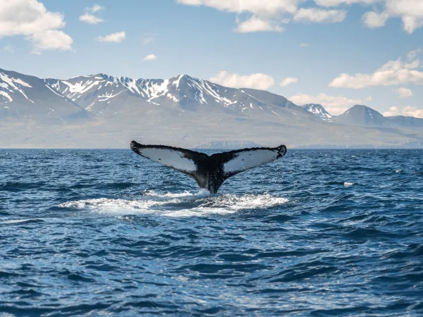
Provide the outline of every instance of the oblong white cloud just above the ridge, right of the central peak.
[[210,78],[211,82],[216,84],[234,87],[234,88],[255,88],[255,89],[269,89],[275,85],[275,80],[270,75],[256,73],[251,75],[231,74],[222,70],[219,74]]

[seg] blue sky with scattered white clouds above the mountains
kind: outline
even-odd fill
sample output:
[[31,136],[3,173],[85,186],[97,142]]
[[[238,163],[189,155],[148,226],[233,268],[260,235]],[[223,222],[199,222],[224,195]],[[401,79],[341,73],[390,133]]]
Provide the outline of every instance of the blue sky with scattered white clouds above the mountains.
[[41,78],[188,74],[423,118],[422,0],[0,0],[0,68]]

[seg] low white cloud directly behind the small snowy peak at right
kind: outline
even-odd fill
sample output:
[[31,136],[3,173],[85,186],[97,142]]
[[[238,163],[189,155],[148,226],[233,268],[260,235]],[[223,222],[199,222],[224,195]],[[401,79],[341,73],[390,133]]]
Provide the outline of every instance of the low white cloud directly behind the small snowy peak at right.
[[288,98],[290,101],[293,101],[294,104],[303,105],[303,104],[321,104],[324,106],[326,111],[332,115],[340,115],[355,104],[362,104],[362,99],[348,99],[343,96],[329,96],[327,94],[321,93],[317,96],[309,96],[308,94],[296,94]]

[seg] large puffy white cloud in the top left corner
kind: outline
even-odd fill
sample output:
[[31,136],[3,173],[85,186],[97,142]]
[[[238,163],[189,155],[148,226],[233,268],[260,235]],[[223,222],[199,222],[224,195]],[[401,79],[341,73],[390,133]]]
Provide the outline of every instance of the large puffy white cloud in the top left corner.
[[[23,35],[32,42],[32,52],[71,50],[73,39],[59,30],[65,27],[64,15],[47,11],[37,0],[0,0],[0,38]],[[51,36],[51,39],[43,37]]]

